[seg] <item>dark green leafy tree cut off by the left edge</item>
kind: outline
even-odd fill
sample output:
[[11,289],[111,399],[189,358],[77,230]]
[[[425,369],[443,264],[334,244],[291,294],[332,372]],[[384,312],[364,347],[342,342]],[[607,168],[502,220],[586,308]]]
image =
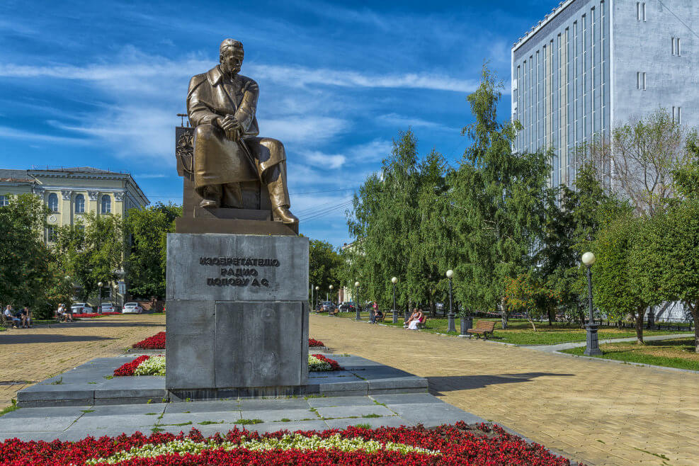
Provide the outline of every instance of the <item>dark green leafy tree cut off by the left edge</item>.
[[35,317],[50,315],[52,255],[43,241],[48,211],[33,194],[8,195],[0,207],[0,303],[29,305]]

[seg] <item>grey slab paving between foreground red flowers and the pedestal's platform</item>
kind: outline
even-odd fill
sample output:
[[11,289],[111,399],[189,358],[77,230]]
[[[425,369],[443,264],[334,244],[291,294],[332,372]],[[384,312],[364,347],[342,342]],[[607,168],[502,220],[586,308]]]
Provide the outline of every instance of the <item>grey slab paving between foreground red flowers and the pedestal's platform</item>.
[[75,441],[87,436],[121,433],[188,433],[204,436],[227,433],[234,427],[249,431],[297,431],[370,427],[438,426],[465,421],[485,422],[428,393],[376,394],[370,397],[290,397],[237,401],[178,402],[75,407],[21,408],[0,417],[0,441]]

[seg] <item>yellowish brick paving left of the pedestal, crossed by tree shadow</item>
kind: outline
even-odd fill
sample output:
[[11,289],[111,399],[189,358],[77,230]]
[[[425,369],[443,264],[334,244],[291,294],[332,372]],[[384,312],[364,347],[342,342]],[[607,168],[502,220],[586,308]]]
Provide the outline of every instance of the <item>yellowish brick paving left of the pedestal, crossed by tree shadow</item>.
[[0,409],[17,390],[93,358],[116,356],[163,330],[164,315],[125,314],[0,332]]

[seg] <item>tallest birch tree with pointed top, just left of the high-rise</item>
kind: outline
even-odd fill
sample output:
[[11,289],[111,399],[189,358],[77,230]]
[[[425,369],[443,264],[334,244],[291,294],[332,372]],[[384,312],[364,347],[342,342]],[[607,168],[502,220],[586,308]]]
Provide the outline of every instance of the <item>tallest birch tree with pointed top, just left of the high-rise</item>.
[[471,307],[498,307],[507,324],[506,279],[527,271],[542,238],[547,155],[512,151],[517,123],[500,123],[503,84],[484,67],[470,94],[475,121],[462,134],[473,140],[448,177],[450,225],[457,240],[453,263],[457,299]]

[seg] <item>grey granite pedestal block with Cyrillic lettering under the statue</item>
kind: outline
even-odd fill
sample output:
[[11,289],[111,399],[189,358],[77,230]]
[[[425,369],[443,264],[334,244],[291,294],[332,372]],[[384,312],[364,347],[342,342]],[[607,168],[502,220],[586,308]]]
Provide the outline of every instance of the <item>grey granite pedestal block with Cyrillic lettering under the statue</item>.
[[308,382],[308,239],[168,234],[173,399],[300,394]]

